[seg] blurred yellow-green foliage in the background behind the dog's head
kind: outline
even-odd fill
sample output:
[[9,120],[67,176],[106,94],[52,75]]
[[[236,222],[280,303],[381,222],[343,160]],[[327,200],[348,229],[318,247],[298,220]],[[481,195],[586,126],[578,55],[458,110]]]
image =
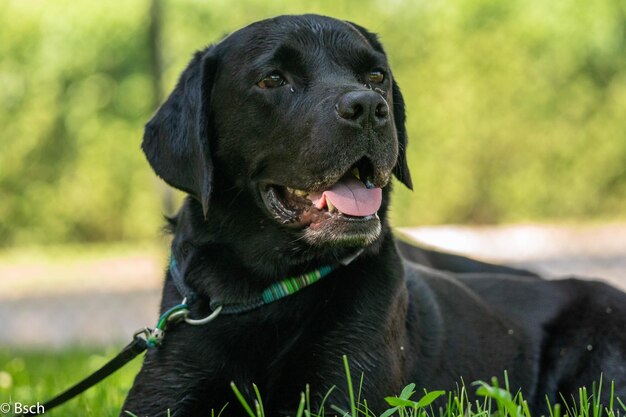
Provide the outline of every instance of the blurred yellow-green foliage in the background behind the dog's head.
[[[0,245],[156,235],[150,5],[0,4]],[[396,186],[396,225],[624,218],[623,0],[165,0],[165,90],[194,50],[304,12],[386,46],[415,185]]]

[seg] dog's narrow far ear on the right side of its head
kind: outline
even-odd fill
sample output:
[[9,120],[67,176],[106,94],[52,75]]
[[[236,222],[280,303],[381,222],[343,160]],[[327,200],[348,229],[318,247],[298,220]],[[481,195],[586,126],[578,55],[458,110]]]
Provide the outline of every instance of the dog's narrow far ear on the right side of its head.
[[[362,26],[357,25],[356,23],[346,22],[349,26],[352,26],[360,35],[362,35],[367,42],[374,48],[376,51],[385,54],[385,50],[383,49],[383,45],[378,40],[378,37],[365,29]],[[391,76],[392,81],[392,99],[393,99],[393,119],[396,123],[396,133],[398,135],[398,161],[396,162],[396,166],[393,168],[393,173],[396,178],[404,184],[408,189],[413,189],[413,181],[411,180],[411,172],[409,171],[409,166],[407,164],[406,159],[406,147],[407,147],[407,134],[406,134],[406,112],[404,108],[404,99],[402,98],[402,93],[400,92],[400,87],[398,83]]]

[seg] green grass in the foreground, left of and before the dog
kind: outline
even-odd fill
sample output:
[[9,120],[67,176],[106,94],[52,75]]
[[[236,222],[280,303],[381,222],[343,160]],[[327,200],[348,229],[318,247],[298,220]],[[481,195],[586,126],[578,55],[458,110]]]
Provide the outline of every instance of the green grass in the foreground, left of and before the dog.
[[[116,353],[115,349],[89,350],[70,349],[63,351],[11,351],[0,349],[0,403],[19,401],[23,404],[43,402],[73,385],[89,373],[102,366]],[[141,360],[135,360],[116,374],[69,403],[61,406],[54,415],[117,416],[126,393],[139,370]],[[375,417],[369,410],[366,399],[361,396],[363,376],[354,380],[348,361],[344,358],[347,391],[350,409],[344,410],[325,400],[319,409],[312,409],[307,387],[301,394],[299,408],[294,417]],[[358,382],[355,384],[355,382]],[[619,417],[626,415],[626,405],[615,396],[610,404],[600,404],[598,392],[610,389],[611,384],[581,388],[579,398],[563,399],[563,406],[549,405],[548,417]],[[246,401],[237,386],[231,385],[239,404],[249,417],[265,417],[262,396],[253,386],[256,399]],[[479,400],[471,402],[468,391],[475,392]],[[329,392],[330,394],[330,392]],[[327,395],[328,397],[328,395]],[[434,407],[433,401],[443,402],[443,407]],[[489,383],[478,381],[471,385],[461,383],[455,392],[417,392],[414,384],[407,385],[397,396],[385,398],[389,409],[377,417],[531,417],[522,393],[511,393],[508,379],[504,375],[501,386],[496,378]],[[440,403],[438,403],[440,404]],[[217,417],[221,410],[207,413]],[[132,416],[132,414],[129,414]],[[270,417],[270,416],[268,416]],[[539,416],[532,416],[539,417]]]

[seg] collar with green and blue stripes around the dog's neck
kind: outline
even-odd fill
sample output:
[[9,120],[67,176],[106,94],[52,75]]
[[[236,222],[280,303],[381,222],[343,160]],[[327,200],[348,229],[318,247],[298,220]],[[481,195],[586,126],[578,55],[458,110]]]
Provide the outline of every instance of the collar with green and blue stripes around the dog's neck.
[[[341,266],[347,266],[354,261],[359,255],[363,253],[363,249],[359,249],[357,252],[343,259],[340,259],[334,264],[325,265],[321,268],[315,269],[310,272],[306,272],[302,275],[295,277],[288,277],[281,281],[275,282],[265,288],[259,296],[252,300],[241,303],[223,303],[219,300],[211,301],[211,310],[215,311],[219,307],[222,307],[221,314],[240,314],[251,310],[255,310],[267,304],[271,304],[287,296],[293,295],[298,291],[315,284],[335,269]],[[174,257],[174,254],[170,256],[170,275],[174,281],[174,285],[178,292],[185,298],[186,304],[192,304],[198,299],[196,292],[191,289],[184,281],[184,273],[181,272],[178,262]]]

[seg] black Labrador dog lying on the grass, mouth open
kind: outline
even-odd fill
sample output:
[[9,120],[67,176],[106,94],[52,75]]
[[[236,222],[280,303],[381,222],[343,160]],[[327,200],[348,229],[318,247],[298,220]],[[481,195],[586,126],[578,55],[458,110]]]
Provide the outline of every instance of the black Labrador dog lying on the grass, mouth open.
[[392,174],[412,186],[404,122],[381,44],[353,23],[277,17],[195,55],[143,149],[190,195],[162,310],[187,297],[190,317],[219,314],[166,330],[124,410],[243,415],[231,381],[249,399],[255,383],[270,416],[294,415],[305,384],[314,403],[336,386],[327,404],[348,409],[342,355],[375,412],[410,382],[505,370],[535,410],[601,372],[626,398],[623,293],[394,241]]

